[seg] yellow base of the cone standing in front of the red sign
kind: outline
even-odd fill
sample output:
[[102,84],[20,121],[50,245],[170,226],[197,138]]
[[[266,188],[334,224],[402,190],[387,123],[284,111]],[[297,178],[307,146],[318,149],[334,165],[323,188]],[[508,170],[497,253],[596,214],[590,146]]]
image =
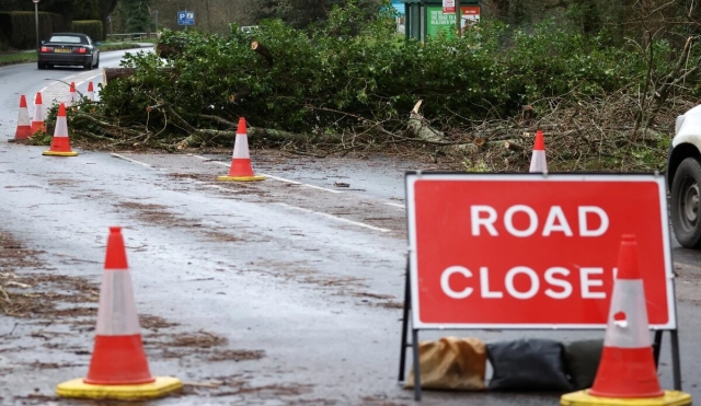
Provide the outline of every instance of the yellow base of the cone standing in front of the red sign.
[[622,398],[589,395],[589,391],[567,393],[560,398],[562,406],[683,406],[691,405],[691,395],[679,391],[665,391],[659,397]]

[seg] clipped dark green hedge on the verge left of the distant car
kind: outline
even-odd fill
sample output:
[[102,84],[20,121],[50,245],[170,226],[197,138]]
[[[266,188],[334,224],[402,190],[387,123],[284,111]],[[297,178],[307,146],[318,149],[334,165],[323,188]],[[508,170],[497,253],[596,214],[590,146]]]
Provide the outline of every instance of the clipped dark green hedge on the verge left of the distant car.
[[[66,30],[64,16],[55,13],[38,13],[39,37],[48,38],[53,33]],[[15,49],[32,49],[36,46],[36,23],[33,11],[0,12],[0,31]]]

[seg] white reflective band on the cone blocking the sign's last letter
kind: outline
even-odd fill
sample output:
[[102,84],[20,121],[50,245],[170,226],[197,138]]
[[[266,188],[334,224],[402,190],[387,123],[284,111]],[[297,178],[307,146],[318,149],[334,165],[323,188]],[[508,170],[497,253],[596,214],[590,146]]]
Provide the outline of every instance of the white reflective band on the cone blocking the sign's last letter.
[[[625,315],[624,321],[617,321],[614,315],[621,313]],[[604,346],[643,348],[651,345],[643,281],[641,279],[617,279],[611,295]]]

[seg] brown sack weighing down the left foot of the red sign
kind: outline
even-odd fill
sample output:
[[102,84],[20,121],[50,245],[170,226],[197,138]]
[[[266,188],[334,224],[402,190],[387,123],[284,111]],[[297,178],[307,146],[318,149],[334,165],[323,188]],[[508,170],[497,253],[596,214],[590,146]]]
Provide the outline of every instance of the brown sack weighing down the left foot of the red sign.
[[[480,391],[486,388],[486,345],[478,338],[444,337],[420,341],[421,387],[425,390]],[[414,370],[406,388],[414,387]]]

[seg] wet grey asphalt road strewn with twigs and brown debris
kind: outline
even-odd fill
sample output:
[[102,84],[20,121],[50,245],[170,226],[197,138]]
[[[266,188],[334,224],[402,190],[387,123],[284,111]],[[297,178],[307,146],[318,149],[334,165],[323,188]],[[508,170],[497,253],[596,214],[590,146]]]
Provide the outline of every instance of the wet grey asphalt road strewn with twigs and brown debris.
[[[103,54],[102,66],[116,66],[122,54]],[[254,169],[268,178],[221,184],[215,177],[226,174],[227,154],[78,150],[77,158],[55,159],[42,156],[45,147],[5,142],[14,135],[20,93],[44,90],[60,98],[66,84],[47,78],[76,81],[82,91],[99,73],[0,69],[0,231],[39,251],[39,269],[97,282],[107,228],[124,227],[139,313],[173,324],[143,328],[151,371],[223,383],[217,390],[189,386],[184,396],[147,404],[412,404],[412,393],[397,384],[406,251],[403,173],[422,167],[388,158],[315,160],[252,151]],[[682,379],[696,397],[701,257],[673,243]],[[1,404],[77,404],[51,397],[57,383],[83,376],[90,360],[90,321],[81,328],[69,322],[0,317]],[[169,337],[179,334],[222,339],[210,347],[169,347]],[[492,341],[604,333],[448,334]],[[233,361],[227,350],[263,356]],[[217,353],[223,357],[212,360]],[[659,372],[670,388],[667,339]],[[555,405],[558,398],[426,392],[423,404]]]

